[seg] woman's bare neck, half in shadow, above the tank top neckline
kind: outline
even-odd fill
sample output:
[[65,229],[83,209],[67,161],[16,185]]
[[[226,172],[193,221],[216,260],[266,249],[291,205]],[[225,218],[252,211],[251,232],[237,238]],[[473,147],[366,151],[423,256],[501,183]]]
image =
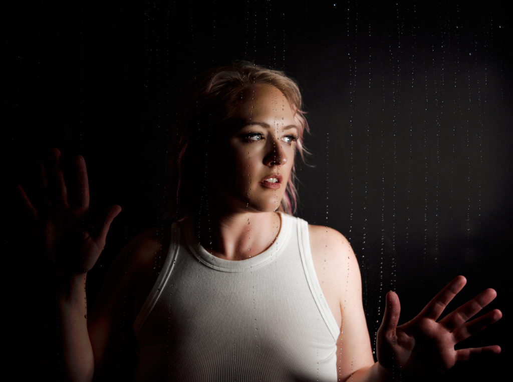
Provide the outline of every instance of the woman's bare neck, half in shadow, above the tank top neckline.
[[202,246],[226,260],[245,260],[271,246],[281,227],[276,212],[206,214],[195,219],[195,232]]

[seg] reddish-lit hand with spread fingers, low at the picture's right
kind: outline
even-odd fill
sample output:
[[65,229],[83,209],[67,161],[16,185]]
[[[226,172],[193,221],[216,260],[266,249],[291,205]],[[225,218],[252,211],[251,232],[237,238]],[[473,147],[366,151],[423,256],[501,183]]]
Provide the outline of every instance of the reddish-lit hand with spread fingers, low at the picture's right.
[[378,362],[387,370],[401,373],[414,380],[440,375],[460,360],[484,353],[500,353],[499,346],[455,350],[455,345],[494,324],[500,310],[492,310],[470,320],[497,296],[486,289],[475,298],[437,321],[447,304],[465,286],[466,279],[458,276],[445,286],[422,311],[407,323],[397,326],[401,306],[398,295],[388,292],[383,322],[378,330]]

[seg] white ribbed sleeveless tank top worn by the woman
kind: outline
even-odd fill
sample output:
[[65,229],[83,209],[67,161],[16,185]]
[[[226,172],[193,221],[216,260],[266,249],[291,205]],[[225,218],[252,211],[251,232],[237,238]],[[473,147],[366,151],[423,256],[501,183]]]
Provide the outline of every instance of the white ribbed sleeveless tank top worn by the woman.
[[207,252],[190,220],[172,225],[164,267],[133,326],[135,380],[337,380],[339,328],[308,224],[286,214],[281,222],[267,250],[241,261]]

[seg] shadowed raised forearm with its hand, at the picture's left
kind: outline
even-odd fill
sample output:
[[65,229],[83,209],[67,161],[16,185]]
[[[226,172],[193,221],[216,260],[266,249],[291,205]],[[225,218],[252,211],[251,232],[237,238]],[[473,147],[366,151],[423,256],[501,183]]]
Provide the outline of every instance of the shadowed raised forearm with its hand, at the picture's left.
[[57,365],[49,367],[69,380],[91,380],[94,363],[87,331],[86,275],[100,256],[110,224],[121,207],[107,208],[94,224],[84,158],[75,158],[65,180],[57,149],[41,164],[37,183],[32,200],[22,186],[16,189],[31,227],[31,239],[37,242],[37,251],[46,263],[45,277],[52,285],[54,304],[50,312],[54,312],[57,332],[47,333],[46,340],[55,343],[60,357]]

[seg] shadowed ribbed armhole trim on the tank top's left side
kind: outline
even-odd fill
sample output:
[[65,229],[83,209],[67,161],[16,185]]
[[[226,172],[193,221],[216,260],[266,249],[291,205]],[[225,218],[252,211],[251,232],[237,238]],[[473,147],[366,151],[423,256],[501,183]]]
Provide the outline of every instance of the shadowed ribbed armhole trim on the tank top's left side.
[[179,247],[180,247],[180,225],[178,222],[174,222],[171,225],[171,240],[170,240],[169,249],[167,252],[167,257],[164,262],[164,266],[162,267],[159,277],[157,277],[155,284],[153,284],[150,294],[146,298],[146,301],[144,302],[141,310],[139,311],[139,314],[137,314],[137,317],[133,323],[133,332],[134,332],[135,336],[137,336],[137,334],[139,334],[144,323],[146,322],[146,319],[150,315],[153,307],[155,306],[157,300],[159,300],[162,290],[164,289],[164,287],[169,279],[169,276],[171,275],[171,271],[173,270],[173,266],[175,263],[174,260],[176,258],[176,253],[177,253]]

